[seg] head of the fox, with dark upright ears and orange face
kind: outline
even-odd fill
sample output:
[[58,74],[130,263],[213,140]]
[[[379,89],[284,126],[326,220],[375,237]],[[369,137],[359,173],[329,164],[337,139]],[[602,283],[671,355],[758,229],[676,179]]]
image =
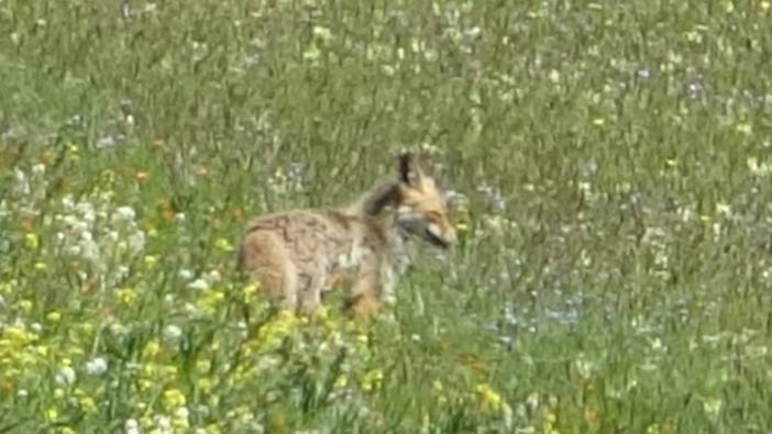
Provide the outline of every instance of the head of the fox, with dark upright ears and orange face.
[[397,158],[395,187],[397,226],[430,244],[448,248],[455,244],[455,227],[448,218],[446,199],[427,167],[404,152]]

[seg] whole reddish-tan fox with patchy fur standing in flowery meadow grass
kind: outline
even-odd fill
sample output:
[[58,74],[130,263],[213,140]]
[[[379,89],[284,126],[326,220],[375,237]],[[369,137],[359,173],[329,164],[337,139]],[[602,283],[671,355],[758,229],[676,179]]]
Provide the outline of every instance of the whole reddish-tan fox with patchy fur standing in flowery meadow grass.
[[282,307],[313,313],[322,292],[353,278],[348,305],[357,316],[394,302],[394,286],[416,256],[416,242],[448,248],[455,227],[426,165],[411,153],[397,159],[397,177],[338,210],[294,210],[251,222],[239,247],[239,268],[278,296]]

